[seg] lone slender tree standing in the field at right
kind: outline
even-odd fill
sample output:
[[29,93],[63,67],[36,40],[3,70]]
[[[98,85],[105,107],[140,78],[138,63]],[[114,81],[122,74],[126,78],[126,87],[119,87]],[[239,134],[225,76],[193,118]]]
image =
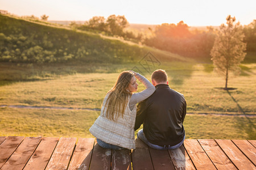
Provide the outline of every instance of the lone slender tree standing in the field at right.
[[236,18],[230,15],[226,18],[226,24],[221,24],[217,32],[213,48],[210,51],[214,69],[225,76],[225,90],[228,90],[229,72],[240,73],[238,67],[245,58],[246,43],[243,42],[243,30],[240,23],[235,23]]

